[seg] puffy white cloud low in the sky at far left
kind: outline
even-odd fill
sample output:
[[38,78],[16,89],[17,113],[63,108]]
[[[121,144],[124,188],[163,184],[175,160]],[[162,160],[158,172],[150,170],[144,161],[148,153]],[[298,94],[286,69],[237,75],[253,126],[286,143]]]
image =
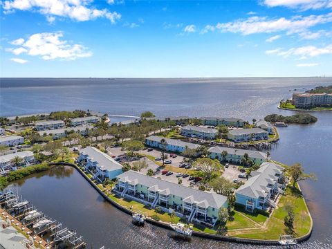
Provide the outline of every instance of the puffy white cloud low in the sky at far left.
[[74,60],[82,57],[90,57],[91,51],[80,44],[68,44],[62,40],[63,34],[37,33],[26,39],[26,42],[18,48],[10,48],[9,51],[15,55],[26,53],[31,56],[39,56],[42,59],[66,59]]

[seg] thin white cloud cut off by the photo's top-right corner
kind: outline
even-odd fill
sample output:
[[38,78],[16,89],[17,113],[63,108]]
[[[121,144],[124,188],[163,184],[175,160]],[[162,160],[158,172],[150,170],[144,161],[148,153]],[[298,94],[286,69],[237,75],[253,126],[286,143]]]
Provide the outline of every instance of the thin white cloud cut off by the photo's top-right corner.
[[300,10],[332,8],[331,0],[265,0],[264,4],[269,7],[284,6]]

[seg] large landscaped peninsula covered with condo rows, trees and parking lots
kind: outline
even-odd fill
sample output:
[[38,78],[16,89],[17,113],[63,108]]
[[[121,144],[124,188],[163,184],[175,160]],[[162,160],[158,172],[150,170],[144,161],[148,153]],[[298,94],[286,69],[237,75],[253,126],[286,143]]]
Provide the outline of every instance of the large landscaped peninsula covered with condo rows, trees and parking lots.
[[47,165],[69,163],[110,202],[160,225],[181,222],[194,234],[273,243],[282,234],[310,236],[312,220],[297,183],[314,176],[299,164],[271,160],[269,152],[229,146],[275,139],[270,122],[145,112],[148,118],[133,123],[108,124],[106,116],[75,113],[82,117],[2,119],[11,135],[1,140],[1,188]]

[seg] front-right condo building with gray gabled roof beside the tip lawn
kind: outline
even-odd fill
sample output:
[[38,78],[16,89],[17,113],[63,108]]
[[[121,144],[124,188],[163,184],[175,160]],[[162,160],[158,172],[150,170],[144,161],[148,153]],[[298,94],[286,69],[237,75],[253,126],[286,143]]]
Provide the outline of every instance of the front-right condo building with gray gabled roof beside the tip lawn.
[[249,212],[275,208],[275,201],[286,186],[284,169],[275,163],[262,163],[250,175],[248,181],[235,192],[237,205],[242,205]]

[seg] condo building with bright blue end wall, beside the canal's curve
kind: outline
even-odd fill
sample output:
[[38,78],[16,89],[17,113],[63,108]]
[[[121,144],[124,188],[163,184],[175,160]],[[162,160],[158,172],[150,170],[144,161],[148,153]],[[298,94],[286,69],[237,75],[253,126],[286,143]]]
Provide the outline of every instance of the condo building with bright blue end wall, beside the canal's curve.
[[122,174],[122,165],[95,147],[81,149],[77,163],[80,163],[100,182],[104,181],[105,178],[114,179]]

